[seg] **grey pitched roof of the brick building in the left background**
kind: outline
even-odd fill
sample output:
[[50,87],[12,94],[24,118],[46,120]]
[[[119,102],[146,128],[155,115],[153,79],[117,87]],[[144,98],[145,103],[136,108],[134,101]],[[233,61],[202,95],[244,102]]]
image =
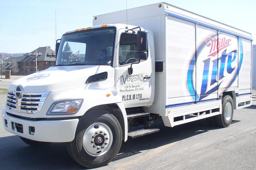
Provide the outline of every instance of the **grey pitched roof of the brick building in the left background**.
[[[53,56],[56,55],[55,51],[49,47],[39,47],[37,50],[26,53],[23,56],[15,57],[11,59],[6,59],[4,62],[34,62],[36,60],[36,51],[37,51],[37,61],[55,61],[56,58]],[[52,56],[52,57],[49,57]]]

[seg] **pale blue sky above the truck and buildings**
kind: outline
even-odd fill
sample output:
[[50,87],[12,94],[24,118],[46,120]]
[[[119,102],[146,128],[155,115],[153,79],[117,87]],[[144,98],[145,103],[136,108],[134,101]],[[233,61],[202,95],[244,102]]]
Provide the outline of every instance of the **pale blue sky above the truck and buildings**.
[[[159,3],[127,0],[127,8]],[[256,44],[254,0],[165,0],[164,2],[252,34]],[[38,47],[55,49],[66,31],[92,26],[93,16],[126,9],[126,0],[0,0],[0,52],[28,53]],[[138,25],[139,26],[139,25]]]

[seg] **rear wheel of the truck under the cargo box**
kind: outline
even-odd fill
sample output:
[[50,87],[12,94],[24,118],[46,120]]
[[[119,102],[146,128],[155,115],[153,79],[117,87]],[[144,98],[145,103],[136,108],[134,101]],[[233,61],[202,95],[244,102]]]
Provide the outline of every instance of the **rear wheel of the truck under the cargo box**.
[[[231,105],[231,110],[230,110],[230,105]],[[231,111],[231,115],[228,116],[228,112],[230,111]],[[222,114],[215,116],[214,121],[219,127],[228,127],[232,122],[233,114],[234,114],[233,99],[230,95],[226,95],[222,98]],[[226,119],[227,116],[230,117],[228,120]]]

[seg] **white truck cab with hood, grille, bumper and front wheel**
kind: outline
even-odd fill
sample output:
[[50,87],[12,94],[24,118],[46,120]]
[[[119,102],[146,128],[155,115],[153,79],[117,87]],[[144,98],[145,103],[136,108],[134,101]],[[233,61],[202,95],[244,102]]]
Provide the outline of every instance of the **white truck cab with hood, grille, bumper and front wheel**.
[[[152,32],[124,24],[82,28],[66,32],[56,54],[55,67],[11,84],[5,129],[31,145],[67,142],[69,153],[79,140],[87,156],[113,159],[116,154],[105,153],[127,140],[127,110],[140,112],[130,119],[149,115],[142,106],[154,100]],[[83,138],[77,139],[80,131]]]

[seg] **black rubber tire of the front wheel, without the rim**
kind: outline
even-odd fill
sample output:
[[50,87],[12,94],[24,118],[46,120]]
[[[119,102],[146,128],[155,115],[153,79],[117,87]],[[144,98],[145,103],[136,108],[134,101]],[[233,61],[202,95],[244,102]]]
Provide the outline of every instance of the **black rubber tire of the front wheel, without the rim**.
[[[112,132],[112,144],[104,155],[92,156],[83,147],[83,135],[94,123],[104,123]],[[88,139],[92,140],[92,139]],[[77,125],[75,138],[66,143],[66,148],[71,158],[84,167],[101,167],[112,161],[117,155],[122,144],[122,129],[116,117],[103,110],[90,111],[83,116]]]

